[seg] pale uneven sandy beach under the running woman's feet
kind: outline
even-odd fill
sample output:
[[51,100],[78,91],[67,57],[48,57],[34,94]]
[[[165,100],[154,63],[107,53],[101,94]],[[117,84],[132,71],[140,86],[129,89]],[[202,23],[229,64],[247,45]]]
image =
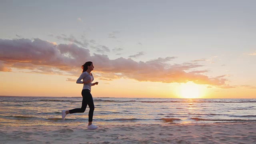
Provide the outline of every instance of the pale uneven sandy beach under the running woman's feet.
[[255,144],[256,123],[3,127],[0,139],[1,144]]

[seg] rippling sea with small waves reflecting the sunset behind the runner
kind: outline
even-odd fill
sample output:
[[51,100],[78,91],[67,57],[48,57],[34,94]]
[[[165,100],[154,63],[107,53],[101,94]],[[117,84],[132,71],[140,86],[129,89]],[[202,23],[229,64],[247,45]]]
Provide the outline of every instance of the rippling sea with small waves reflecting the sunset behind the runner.
[[[0,96],[0,126],[86,125],[88,106],[61,118],[81,104],[82,97]],[[94,98],[94,105],[96,125],[256,122],[256,99]]]

